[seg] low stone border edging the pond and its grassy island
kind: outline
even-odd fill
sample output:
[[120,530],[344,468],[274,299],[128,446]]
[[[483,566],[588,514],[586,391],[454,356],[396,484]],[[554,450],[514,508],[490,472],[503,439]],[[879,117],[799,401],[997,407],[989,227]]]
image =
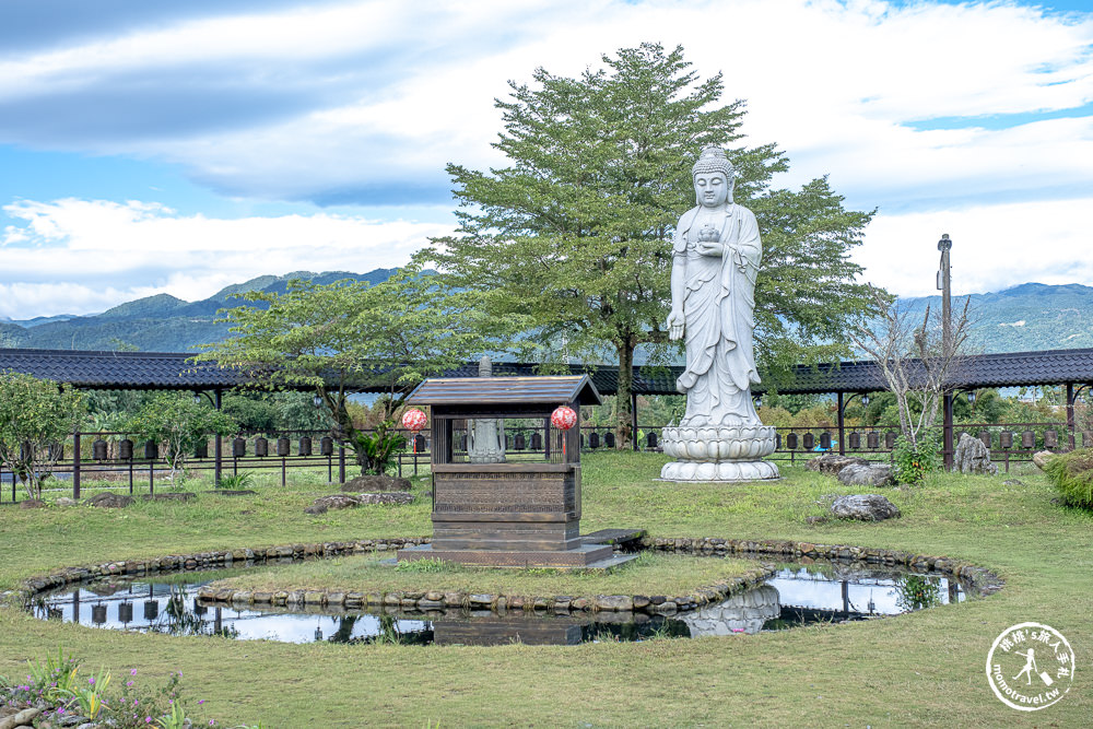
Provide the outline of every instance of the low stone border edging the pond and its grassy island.
[[[27,579],[23,589],[0,593],[0,601],[26,603],[35,595],[68,585],[110,576],[146,576],[202,568],[231,567],[236,563],[259,561],[306,560],[348,554],[396,552],[406,546],[427,544],[426,538],[362,539],[342,542],[313,542],[278,546],[178,554],[149,560],[105,562],[98,565],[67,567],[45,576]],[[956,577],[980,595],[997,592],[1004,581],[994,572],[961,560],[930,556],[898,550],[870,549],[846,544],[819,544],[783,540],[721,539],[714,537],[662,538],[643,537],[637,545],[643,550],[700,555],[762,555],[776,560],[825,560],[860,562],[869,565],[903,566],[916,572],[935,572]],[[618,548],[616,548],[618,549]],[[359,592],[352,590],[281,590],[277,592],[233,590],[207,586],[198,596],[233,605],[331,607],[359,609],[381,605],[403,611],[430,610],[506,610],[548,611],[552,613],[636,612],[671,615],[695,610],[710,602],[720,602],[762,581],[775,572],[761,565],[731,579],[701,587],[683,596],[597,595],[544,596],[486,595],[474,592],[440,592],[436,590]]]

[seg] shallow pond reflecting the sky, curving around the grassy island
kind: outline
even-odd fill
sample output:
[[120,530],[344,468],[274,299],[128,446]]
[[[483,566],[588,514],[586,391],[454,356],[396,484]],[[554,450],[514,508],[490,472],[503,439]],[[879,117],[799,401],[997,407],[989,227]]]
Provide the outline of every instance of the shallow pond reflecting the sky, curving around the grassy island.
[[197,597],[200,587],[240,572],[189,572],[152,579],[85,583],[44,592],[34,598],[31,610],[45,620],[92,627],[240,640],[575,645],[589,640],[754,634],[818,622],[874,620],[962,601],[967,593],[959,581],[941,575],[833,562],[781,565],[753,589],[671,616],[489,610],[423,613],[381,607],[239,609]]

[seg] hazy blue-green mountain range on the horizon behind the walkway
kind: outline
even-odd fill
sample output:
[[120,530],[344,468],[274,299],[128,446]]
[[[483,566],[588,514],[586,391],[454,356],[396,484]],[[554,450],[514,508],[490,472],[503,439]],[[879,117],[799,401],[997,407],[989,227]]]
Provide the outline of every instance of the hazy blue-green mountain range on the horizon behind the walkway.
[[[85,316],[37,317],[23,321],[0,319],[0,346],[47,350],[132,350],[143,352],[192,352],[200,344],[228,336],[227,325],[216,324],[216,310],[232,306],[233,294],[247,291],[283,293],[290,279],[332,283],[354,279],[379,283],[395,269],[368,273],[296,271],[262,275],[227,286],[209,298],[187,302],[156,294]],[[953,299],[959,313],[963,296]],[[941,306],[940,296],[901,298],[900,308],[912,321],[926,306]],[[973,352],[1027,352],[1093,348],[1093,287],[1081,284],[1023,283],[998,293],[972,294]]]

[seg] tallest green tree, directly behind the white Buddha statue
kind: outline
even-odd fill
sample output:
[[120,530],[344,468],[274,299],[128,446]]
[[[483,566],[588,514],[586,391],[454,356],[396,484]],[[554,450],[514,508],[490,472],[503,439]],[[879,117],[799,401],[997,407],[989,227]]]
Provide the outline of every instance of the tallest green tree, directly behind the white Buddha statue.
[[607,349],[625,447],[635,349],[669,351],[668,242],[695,204],[691,166],[703,146],[728,150],[736,199],[763,234],[755,341],[766,376],[844,351],[842,333],[867,304],[847,254],[870,214],[845,210],[825,178],[771,189],[785,155],[742,143],[743,102],[722,104],[721,75],[701,80],[682,48],[643,44],[602,60],[578,78],[538,69],[531,84],[510,83],[496,102],[504,131],[494,144],[507,165],[448,165],[459,230],[423,258],[450,285],[503,292],[491,313],[531,316],[525,343],[541,356],[589,360]]

